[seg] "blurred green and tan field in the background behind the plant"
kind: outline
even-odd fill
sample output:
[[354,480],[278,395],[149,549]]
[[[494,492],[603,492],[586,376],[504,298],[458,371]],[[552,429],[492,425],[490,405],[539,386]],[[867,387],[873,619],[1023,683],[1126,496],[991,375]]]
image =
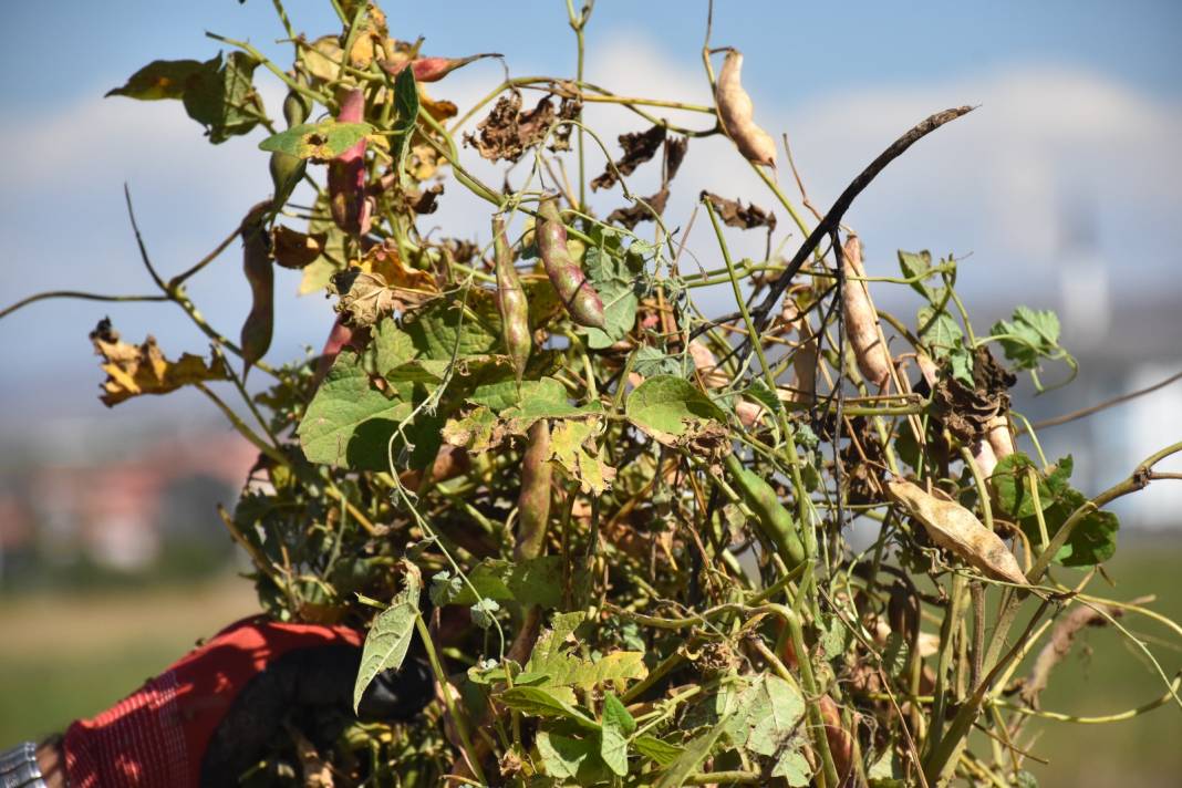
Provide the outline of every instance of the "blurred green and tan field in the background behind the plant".
[[[1126,539],[1091,590],[1117,599],[1157,594],[1155,610],[1182,620],[1182,538]],[[1066,577],[1064,579],[1067,579]],[[197,638],[254,612],[249,584],[225,579],[201,586],[0,599],[0,747],[60,730],[70,719],[110,705],[175,660]],[[1124,625],[1150,644],[1173,676],[1182,667],[1178,639],[1130,617]],[[1089,630],[1054,673],[1043,705],[1071,715],[1108,715],[1162,695],[1144,656],[1112,630]],[[1043,788],[1177,786],[1182,782],[1182,711],[1164,705],[1106,725],[1035,722],[1031,747],[1051,761],[1027,762]]]

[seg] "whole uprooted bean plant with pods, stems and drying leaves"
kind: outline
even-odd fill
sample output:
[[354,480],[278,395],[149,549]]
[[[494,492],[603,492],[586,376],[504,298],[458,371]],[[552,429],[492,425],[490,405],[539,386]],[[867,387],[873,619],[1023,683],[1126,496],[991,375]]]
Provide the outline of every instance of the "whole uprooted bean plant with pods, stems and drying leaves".
[[[1122,624],[1162,617],[1093,591],[1117,543],[1108,504],[1182,443],[1076,489],[1071,457],[1044,455],[1008,393],[1019,375],[1037,390],[1072,376],[1054,314],[974,325],[954,256],[864,260],[843,221],[969,108],[883,141],[820,213],[708,26],[708,105],[584,80],[592,7],[569,4],[576,72],[491,80],[461,112],[434,97],[448,74],[495,79],[512,59],[428,57],[372,2],[332,0],[340,30],[319,38],[274,6],[291,63],[210,34],[225,54],[156,60],[111,91],[178,100],[214,144],[261,126],[273,193],[175,275],[139,241],[154,294],[8,310],[181,308],[208,353],[96,327],[103,400],[194,388],[258,449],[217,515],[264,611],[368,631],[358,697],[408,650],[430,662],[439,690],[416,721],[357,721],[311,755],[285,732],[245,784],[1033,786],[1039,725],[1182,709]],[[255,89],[264,72],[281,108]],[[618,155],[583,121],[595,104],[630,111]],[[702,193],[674,220],[706,137],[766,191]],[[478,157],[504,164],[499,183]],[[656,194],[629,187],[639,168],[660,170]],[[596,215],[589,188],[621,207]],[[429,229],[455,190],[487,206],[474,237]],[[690,261],[694,233],[714,252]],[[764,259],[732,255],[742,233],[766,234]],[[188,284],[235,240],[253,307],[232,338]],[[329,339],[281,363],[274,291],[297,278],[331,297]],[[720,287],[733,305],[704,313],[695,293]],[[885,288],[917,312],[876,308]],[[1085,625],[1128,638],[1161,696],[1108,717],[1043,709]]]

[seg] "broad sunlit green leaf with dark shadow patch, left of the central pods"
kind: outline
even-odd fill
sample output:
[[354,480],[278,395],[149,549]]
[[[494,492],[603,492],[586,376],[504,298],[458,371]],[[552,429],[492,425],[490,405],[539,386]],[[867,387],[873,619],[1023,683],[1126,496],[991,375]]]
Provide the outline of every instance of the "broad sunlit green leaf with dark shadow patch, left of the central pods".
[[387,444],[411,404],[391,399],[370,383],[353,350],[343,350],[329,370],[299,428],[310,462],[353,470],[387,470]]

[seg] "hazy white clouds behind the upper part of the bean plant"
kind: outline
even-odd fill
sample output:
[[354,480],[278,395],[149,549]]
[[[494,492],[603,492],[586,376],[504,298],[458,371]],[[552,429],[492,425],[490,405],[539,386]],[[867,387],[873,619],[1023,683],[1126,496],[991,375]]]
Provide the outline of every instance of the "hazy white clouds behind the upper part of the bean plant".
[[[1037,286],[1056,286],[1063,215],[1080,197],[1096,206],[1099,254],[1106,255],[1118,282],[1143,284],[1142,268],[1155,262],[1161,272],[1173,267],[1174,261],[1164,255],[1182,247],[1182,224],[1174,221],[1182,208],[1177,144],[1182,109],[1177,104],[1096,73],[1037,64],[972,78],[870,85],[797,102],[787,92],[790,83],[768,84],[751,76],[760,73],[753,65],[758,57],[752,53],[747,60],[756,119],[773,135],[790,132],[813,202],[821,208],[917,121],[947,106],[981,105],[921,141],[855,203],[847,221],[866,241],[876,273],[894,267],[896,248],[973,252],[961,280],[970,297],[974,292],[998,295],[1005,282],[1013,281],[1007,276],[1021,273],[1026,276],[1022,298],[1027,298]],[[514,73],[553,70],[547,65],[552,64],[518,60]],[[587,74],[624,95],[709,103],[696,61],[674,61],[635,33],[615,35],[592,52]],[[491,65],[474,65],[433,86],[431,92],[466,106],[498,79],[500,73]],[[277,108],[279,92],[273,86],[265,91],[268,105]],[[527,92],[527,100],[537,96]],[[690,128],[712,123],[704,115],[652,112]],[[587,117],[612,155],[618,154],[616,135],[647,125],[610,105],[589,106]],[[123,215],[119,187],[124,181],[132,185],[154,254],[162,267],[171,269],[199,259],[249,204],[269,191],[265,155],[255,146],[258,136],[209,145],[175,102],[87,99],[43,117],[0,122],[0,133],[9,150],[20,151],[6,163],[6,188],[0,193],[0,223],[9,258],[0,271],[5,301],[50,287],[143,287]],[[470,149],[465,149],[465,156],[474,172],[500,185],[500,168],[482,162]],[[782,156],[780,161],[784,167]],[[598,150],[589,151],[589,175],[600,171],[603,163]],[[567,157],[567,164],[573,174],[573,157]],[[522,162],[514,169],[514,184],[521,183],[528,167]],[[657,169],[650,164],[629,180],[637,194],[655,189]],[[794,196],[786,170],[780,181]],[[667,215],[670,226],[686,224],[701,189],[774,206],[722,137],[691,142],[675,185],[677,194]],[[600,215],[622,202],[618,190],[593,196]],[[423,227],[487,237],[489,211],[487,203],[450,183],[440,211],[424,219]],[[779,235],[794,230],[782,211],[777,213]],[[61,232],[61,216],[67,217],[69,232]],[[760,233],[728,230],[728,239],[736,255],[762,254]],[[786,248],[791,250],[793,243]],[[196,291],[210,298],[206,304],[210,319],[228,333],[236,331],[247,298],[233,256],[212,267]],[[694,271],[694,259],[708,267],[720,265],[703,217],[695,226],[684,271]],[[1126,260],[1137,260],[1136,267]],[[280,279],[280,287],[288,285],[294,288],[294,276]],[[1043,295],[1044,300],[1052,297]],[[327,320],[319,299],[298,304],[291,319],[280,320],[279,326],[290,349],[298,341],[317,344],[316,327]],[[725,304],[719,307],[727,308]],[[53,307],[41,308],[45,314]],[[138,333],[136,319],[131,318],[135,331],[129,333]],[[143,325],[151,324],[144,319]],[[77,326],[53,326],[41,341],[73,347],[78,333]]]

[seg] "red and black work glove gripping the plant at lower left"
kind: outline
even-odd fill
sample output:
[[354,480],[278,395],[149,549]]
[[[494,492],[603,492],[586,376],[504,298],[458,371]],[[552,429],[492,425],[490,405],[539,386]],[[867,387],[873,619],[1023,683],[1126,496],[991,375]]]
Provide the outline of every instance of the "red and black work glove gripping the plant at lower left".
[[[362,633],[245,619],[91,719],[61,744],[70,788],[238,784],[285,724],[318,748],[355,718]],[[434,697],[415,640],[398,672],[366,690],[359,716],[405,721]]]

